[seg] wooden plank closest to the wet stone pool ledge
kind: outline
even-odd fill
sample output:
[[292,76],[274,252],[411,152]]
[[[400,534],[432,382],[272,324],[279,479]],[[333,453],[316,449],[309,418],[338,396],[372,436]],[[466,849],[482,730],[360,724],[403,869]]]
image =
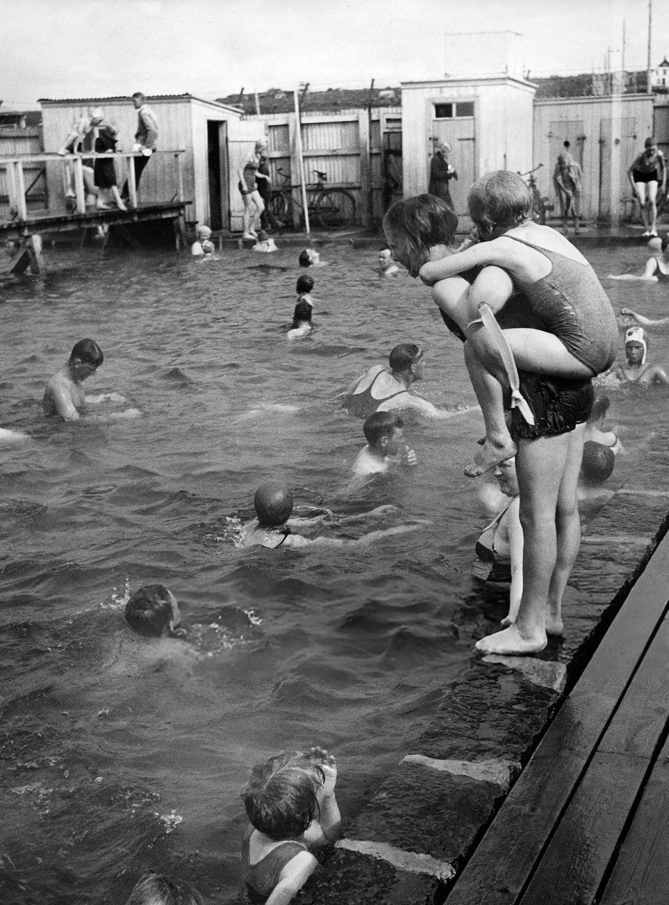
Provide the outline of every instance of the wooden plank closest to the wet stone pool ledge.
[[[603,741],[648,640],[663,620],[667,576],[669,536],[637,579],[449,893],[447,905],[511,905],[519,900],[589,758]],[[613,733],[607,739],[612,751],[620,744]]]

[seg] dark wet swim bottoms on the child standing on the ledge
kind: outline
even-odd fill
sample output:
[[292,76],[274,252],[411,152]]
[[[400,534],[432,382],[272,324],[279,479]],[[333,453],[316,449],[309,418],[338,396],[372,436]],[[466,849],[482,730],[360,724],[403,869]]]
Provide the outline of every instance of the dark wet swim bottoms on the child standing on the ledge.
[[[537,440],[573,431],[577,424],[588,421],[595,392],[592,380],[568,380],[546,374],[519,371],[521,394],[534,415],[535,424],[528,424],[517,408],[511,409],[509,432],[514,440]],[[511,390],[504,393],[504,408],[511,407]]]

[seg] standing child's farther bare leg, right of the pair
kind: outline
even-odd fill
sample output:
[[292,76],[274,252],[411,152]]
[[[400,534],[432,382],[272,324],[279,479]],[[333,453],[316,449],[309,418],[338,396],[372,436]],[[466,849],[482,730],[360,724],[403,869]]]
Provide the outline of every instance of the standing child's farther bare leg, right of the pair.
[[558,556],[550,579],[548,609],[546,612],[546,633],[562,634],[562,595],[567,587],[571,570],[580,547],[580,518],[578,516],[577,485],[581,461],[583,459],[583,435],[585,424],[578,424],[569,433],[567,462],[559,485],[556,528]]

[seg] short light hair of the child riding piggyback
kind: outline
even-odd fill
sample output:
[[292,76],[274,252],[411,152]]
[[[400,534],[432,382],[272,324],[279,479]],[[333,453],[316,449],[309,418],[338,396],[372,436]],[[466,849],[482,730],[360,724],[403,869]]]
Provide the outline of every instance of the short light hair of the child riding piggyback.
[[467,207],[482,238],[503,233],[531,216],[532,195],[525,180],[511,170],[495,170],[478,179],[467,195]]

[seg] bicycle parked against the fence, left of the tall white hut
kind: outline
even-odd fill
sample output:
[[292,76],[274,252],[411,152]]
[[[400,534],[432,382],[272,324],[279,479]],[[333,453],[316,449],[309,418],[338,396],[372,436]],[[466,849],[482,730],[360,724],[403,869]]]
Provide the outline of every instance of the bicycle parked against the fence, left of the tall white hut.
[[[281,167],[277,174],[283,183],[272,191],[269,208],[277,220],[291,224],[293,205],[300,209],[300,221],[304,224],[304,206],[301,203],[301,186],[292,186],[291,177]],[[326,185],[328,176],[320,170],[313,171],[317,182],[307,186],[307,207],[310,223],[320,229],[344,229],[356,222],[356,199],[345,188]]]

